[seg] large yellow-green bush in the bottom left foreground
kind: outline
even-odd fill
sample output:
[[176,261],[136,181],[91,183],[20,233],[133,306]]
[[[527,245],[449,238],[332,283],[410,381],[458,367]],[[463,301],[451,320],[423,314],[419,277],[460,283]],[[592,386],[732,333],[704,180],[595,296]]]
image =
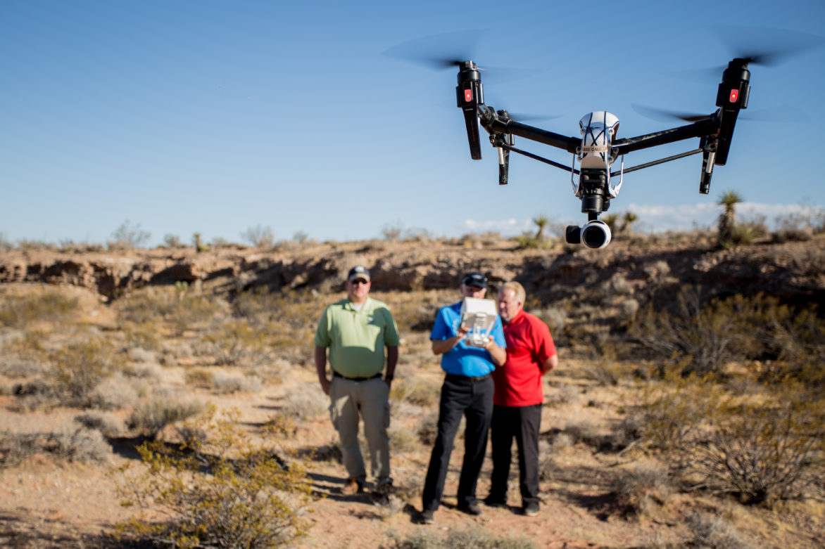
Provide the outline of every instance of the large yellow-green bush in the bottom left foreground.
[[238,416],[213,410],[190,422],[187,432],[198,436],[179,447],[155,441],[138,448],[145,467],[120,470],[121,504],[139,509],[117,525],[121,537],[256,549],[288,546],[307,532],[302,514],[311,486],[304,463],[285,462],[271,440],[252,443]]

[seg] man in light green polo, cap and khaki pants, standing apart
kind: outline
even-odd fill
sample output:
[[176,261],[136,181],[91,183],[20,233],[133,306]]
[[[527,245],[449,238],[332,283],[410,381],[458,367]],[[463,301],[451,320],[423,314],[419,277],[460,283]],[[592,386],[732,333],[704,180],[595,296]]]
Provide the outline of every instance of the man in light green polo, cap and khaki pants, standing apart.
[[[398,364],[398,328],[389,307],[369,297],[370,271],[361,265],[347,275],[347,299],[327,307],[315,331],[315,368],[332,404],[332,425],[341,439],[347,484],[342,493],[364,491],[366,470],[358,446],[358,419],[370,446],[376,493],[386,494],[389,476],[389,388]],[[384,378],[384,347],[387,370]],[[327,377],[327,349],[332,379]]]

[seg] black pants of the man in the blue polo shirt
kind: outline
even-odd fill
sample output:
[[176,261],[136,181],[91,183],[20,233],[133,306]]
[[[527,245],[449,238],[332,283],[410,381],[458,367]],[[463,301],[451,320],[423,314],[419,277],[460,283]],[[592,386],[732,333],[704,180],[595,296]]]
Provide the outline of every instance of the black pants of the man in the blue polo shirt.
[[475,502],[475,487],[487,451],[488,431],[493,418],[493,378],[473,382],[471,378],[448,375],[441,386],[441,406],[438,410],[438,435],[432,448],[427,480],[424,482],[422,504],[425,511],[435,511],[441,504],[444,482],[450,466],[455,434],[461,416],[467,418],[464,431],[464,462],[459,478],[458,504],[464,507]]

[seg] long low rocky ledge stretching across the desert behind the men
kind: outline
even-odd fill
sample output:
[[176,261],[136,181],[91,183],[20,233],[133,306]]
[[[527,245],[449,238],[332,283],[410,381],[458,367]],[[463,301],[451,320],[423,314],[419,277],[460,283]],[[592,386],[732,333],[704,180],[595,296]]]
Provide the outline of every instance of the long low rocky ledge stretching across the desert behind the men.
[[[729,251],[702,248],[690,239],[638,238],[607,250],[562,246],[516,250],[511,242],[468,248],[444,242],[345,242],[260,251],[138,250],[64,254],[0,252],[0,283],[71,284],[117,298],[149,284],[186,282],[203,291],[339,290],[351,265],[370,269],[374,289],[453,288],[468,270],[493,282],[518,279],[543,301],[580,293],[643,293],[653,282],[699,284],[714,293],[766,292],[823,303],[825,239],[764,243]],[[825,303],[823,303],[825,305]]]

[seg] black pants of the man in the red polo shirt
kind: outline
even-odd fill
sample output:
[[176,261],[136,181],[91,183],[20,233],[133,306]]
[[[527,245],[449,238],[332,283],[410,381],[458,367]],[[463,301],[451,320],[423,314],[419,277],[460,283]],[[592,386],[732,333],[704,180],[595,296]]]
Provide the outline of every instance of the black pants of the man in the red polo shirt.
[[539,503],[541,405],[493,406],[493,475],[490,499],[507,501],[513,438],[518,448],[521,504]]

